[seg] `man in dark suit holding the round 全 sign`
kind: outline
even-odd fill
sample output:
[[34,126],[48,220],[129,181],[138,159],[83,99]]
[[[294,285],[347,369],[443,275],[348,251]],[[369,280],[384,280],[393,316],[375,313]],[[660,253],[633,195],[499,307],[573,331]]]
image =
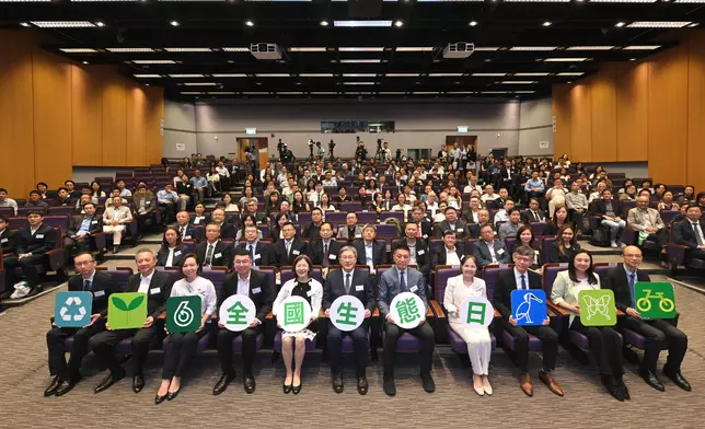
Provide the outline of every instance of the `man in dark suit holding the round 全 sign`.
[[240,335],[242,337],[242,372],[245,392],[254,393],[256,383],[252,373],[252,366],[255,360],[257,335],[262,332],[262,323],[265,316],[271,311],[274,301],[271,285],[267,283],[267,276],[252,269],[252,255],[244,248],[235,251],[234,273],[226,276],[223,290],[220,294],[218,308],[231,295],[241,294],[250,297],[256,309],[255,318],[250,326],[242,332],[230,331],[222,323],[218,322],[218,357],[222,374],[213,386],[213,395],[220,395],[228,389],[228,384],[235,378],[235,370],[232,368],[232,341]]

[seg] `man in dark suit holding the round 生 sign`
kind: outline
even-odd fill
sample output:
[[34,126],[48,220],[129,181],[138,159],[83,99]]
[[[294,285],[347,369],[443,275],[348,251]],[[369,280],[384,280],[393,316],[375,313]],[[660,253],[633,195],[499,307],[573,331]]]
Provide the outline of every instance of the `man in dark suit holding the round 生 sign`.
[[[367,394],[367,357],[369,352],[369,325],[367,318],[372,315],[377,305],[374,297],[374,285],[372,277],[366,269],[355,269],[357,251],[352,246],[345,246],[339,253],[343,269],[334,269],[328,273],[323,286],[322,309],[325,315],[331,317],[331,305],[342,295],[354,295],[365,305],[365,318],[360,326],[351,332],[342,332],[333,324],[328,325],[326,337],[326,349],[328,362],[333,372],[333,391],[343,392],[343,375],[340,373],[340,360],[343,352],[343,337],[349,336],[355,344],[355,374],[357,378],[357,391],[360,395]],[[361,310],[360,310],[361,311]]]

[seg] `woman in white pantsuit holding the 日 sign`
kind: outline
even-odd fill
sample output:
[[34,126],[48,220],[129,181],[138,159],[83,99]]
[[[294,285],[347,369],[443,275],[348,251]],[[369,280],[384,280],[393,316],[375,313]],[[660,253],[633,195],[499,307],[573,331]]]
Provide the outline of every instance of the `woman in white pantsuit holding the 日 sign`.
[[467,297],[487,298],[485,280],[475,277],[477,260],[467,255],[461,260],[461,275],[451,277],[446,285],[443,306],[448,310],[450,328],[453,329],[467,344],[470,362],[473,366],[473,389],[478,395],[492,395],[489,373],[489,355],[492,353],[492,338],[489,331],[484,327],[465,325],[460,320],[460,305]]

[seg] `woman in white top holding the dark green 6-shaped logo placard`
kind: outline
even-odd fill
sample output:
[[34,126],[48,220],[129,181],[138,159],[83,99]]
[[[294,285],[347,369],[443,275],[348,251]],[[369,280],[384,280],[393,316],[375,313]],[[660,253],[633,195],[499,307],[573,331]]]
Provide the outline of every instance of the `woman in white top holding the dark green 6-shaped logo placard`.
[[154,397],[154,404],[158,405],[164,399],[172,401],[178,395],[181,379],[188,370],[188,364],[196,355],[198,340],[208,332],[210,317],[218,308],[216,287],[210,280],[198,276],[196,255],[188,254],[184,257],[181,271],[184,278],[174,283],[171,297],[200,297],[200,327],[187,333],[169,334],[171,343],[164,353],[162,383]]

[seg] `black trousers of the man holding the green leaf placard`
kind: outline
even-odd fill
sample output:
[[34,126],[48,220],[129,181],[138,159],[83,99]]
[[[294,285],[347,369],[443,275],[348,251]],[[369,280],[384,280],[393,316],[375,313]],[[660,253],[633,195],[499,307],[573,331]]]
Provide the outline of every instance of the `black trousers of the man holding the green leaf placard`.
[[152,338],[162,332],[162,324],[154,323],[140,329],[104,331],[89,341],[89,348],[112,373],[120,372],[120,364],[115,358],[115,345],[125,338],[132,337],[132,375],[141,375]]

